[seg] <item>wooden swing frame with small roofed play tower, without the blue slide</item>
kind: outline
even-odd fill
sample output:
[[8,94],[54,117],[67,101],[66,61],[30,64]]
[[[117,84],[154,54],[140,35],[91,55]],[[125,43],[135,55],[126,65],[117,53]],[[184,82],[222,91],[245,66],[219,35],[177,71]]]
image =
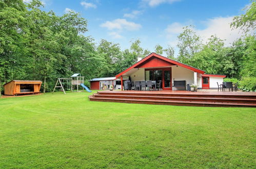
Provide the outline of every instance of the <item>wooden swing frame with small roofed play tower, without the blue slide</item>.
[[[65,86],[66,86],[67,90],[71,90],[71,92],[73,92],[73,90],[75,90],[75,86],[76,86],[76,90],[78,92],[78,87],[80,86],[81,83],[84,83],[84,76],[81,76],[80,73],[73,74],[71,76],[71,78],[57,78],[57,81],[56,81],[55,87],[52,91],[52,94],[56,88],[61,88],[61,91],[63,91],[66,94],[66,92],[64,90]],[[59,86],[57,86],[58,84],[59,84]],[[83,88],[83,90],[84,90],[84,88]]]

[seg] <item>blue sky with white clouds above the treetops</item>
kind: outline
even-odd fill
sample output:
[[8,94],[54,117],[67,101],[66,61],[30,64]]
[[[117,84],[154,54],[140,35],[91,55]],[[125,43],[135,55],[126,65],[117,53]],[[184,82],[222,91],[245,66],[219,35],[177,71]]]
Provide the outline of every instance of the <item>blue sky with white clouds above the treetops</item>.
[[[24,0],[30,1],[30,0]],[[139,38],[141,46],[151,52],[154,46],[171,45],[176,49],[177,35],[182,27],[194,25],[195,32],[204,41],[216,34],[226,39],[226,45],[241,36],[231,30],[234,15],[250,4],[248,0],[43,0],[44,10],[62,15],[69,10],[80,12],[88,20],[86,36],[96,43],[103,39],[119,43],[122,49],[130,47],[132,39]],[[175,50],[178,54],[178,50]]]

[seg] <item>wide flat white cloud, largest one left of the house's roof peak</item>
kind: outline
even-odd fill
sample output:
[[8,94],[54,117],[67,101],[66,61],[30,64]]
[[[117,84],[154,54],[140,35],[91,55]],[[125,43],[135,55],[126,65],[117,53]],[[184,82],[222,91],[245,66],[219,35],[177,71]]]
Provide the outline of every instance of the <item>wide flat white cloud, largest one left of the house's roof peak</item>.
[[105,27],[108,30],[126,29],[128,31],[134,31],[134,30],[139,30],[142,26],[140,24],[135,24],[134,22],[128,22],[126,19],[115,19],[115,20],[107,21],[101,24],[101,27]]

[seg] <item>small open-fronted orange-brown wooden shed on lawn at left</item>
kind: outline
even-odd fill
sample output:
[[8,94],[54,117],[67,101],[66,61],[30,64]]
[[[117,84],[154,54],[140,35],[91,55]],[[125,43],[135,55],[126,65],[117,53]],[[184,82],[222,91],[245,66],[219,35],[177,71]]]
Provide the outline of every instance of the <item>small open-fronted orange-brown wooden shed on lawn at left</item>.
[[40,80],[12,80],[5,83],[5,95],[36,94],[40,93]]

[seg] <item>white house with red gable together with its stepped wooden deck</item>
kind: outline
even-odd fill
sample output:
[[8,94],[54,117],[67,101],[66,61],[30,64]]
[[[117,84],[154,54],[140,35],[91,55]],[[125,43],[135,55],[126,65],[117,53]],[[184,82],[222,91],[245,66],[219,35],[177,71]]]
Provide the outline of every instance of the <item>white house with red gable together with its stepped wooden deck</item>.
[[[115,77],[121,78],[123,83],[124,78],[129,76],[131,81],[141,81],[141,83],[145,80],[163,81],[161,88],[164,90],[98,91],[89,96],[90,100],[207,107],[256,107],[256,95],[253,92],[176,91],[185,90],[192,83],[199,89],[217,89],[217,82],[223,83],[223,78],[226,76],[205,74],[203,70],[156,53],[151,53]],[[177,81],[185,82],[186,85],[181,88],[175,85]]]

